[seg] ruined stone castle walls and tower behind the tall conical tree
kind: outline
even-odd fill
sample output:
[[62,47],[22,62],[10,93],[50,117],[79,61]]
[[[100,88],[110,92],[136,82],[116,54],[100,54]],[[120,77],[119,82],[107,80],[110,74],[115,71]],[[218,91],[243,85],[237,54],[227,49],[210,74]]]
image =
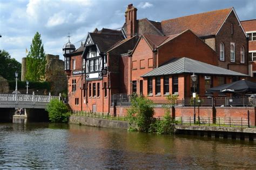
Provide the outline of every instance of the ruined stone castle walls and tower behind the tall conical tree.
[[[26,58],[22,58],[21,80],[26,81]],[[46,54],[44,81],[50,82],[52,95],[58,95],[67,89],[67,79],[64,72],[64,61],[59,55]]]

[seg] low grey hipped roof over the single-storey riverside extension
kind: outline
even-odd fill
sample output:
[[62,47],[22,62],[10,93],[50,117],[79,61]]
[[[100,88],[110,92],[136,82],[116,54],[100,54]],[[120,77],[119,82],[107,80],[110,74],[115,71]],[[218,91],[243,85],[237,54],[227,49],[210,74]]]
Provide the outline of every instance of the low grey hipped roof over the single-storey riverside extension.
[[171,75],[181,73],[195,73],[204,75],[228,75],[228,76],[248,76],[246,74],[234,72],[225,68],[209,65],[207,63],[190,58],[173,59],[170,62],[151,70],[142,77]]

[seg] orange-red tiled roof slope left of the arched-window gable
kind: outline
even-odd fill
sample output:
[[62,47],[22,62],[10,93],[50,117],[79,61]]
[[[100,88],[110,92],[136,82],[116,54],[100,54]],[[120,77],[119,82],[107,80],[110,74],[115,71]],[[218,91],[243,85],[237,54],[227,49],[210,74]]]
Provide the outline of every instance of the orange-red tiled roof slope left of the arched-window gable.
[[232,8],[228,8],[163,20],[161,29],[166,36],[187,29],[196,33],[198,37],[215,35],[231,10]]

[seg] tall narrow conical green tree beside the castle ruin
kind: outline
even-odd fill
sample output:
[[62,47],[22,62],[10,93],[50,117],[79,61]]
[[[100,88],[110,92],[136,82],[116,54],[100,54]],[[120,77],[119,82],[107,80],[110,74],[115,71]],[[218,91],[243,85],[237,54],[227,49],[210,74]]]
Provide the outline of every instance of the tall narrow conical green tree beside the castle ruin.
[[45,53],[42,44],[41,34],[36,32],[30,45],[30,51],[26,56],[26,80],[40,81],[44,79]]

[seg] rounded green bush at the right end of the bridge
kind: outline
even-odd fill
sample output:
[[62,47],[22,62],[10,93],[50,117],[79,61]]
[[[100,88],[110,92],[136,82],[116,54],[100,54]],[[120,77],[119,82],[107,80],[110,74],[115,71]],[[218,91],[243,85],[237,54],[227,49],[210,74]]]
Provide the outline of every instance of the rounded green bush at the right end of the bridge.
[[71,115],[68,107],[57,99],[51,100],[45,110],[49,112],[49,119],[54,123],[66,123]]

